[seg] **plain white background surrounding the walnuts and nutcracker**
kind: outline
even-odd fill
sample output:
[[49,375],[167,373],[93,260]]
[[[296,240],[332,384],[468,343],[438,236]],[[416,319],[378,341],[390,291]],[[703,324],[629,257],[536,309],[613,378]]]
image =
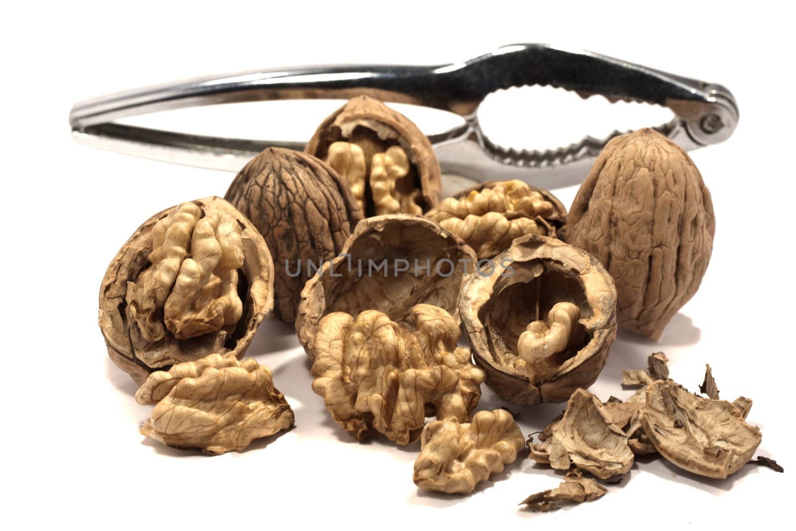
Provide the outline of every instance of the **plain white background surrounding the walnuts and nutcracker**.
[[[562,8],[537,2],[65,3],[6,5],[0,32],[5,529],[721,529],[760,515],[786,517],[794,473],[790,14],[766,2],[743,11],[716,2]],[[638,459],[629,477],[598,502],[529,513],[517,503],[556,486],[560,474],[534,467],[523,454],[469,497],[419,492],[412,483],[418,447],[349,439],[310,391],[305,356],[291,326],[279,322],[263,325],[249,353],[273,369],[295,410],[295,429],[218,457],[173,450],[139,435],[150,408],[135,404],[135,385],[107,359],[96,326],[100,280],[119,246],[150,214],[223,195],[232,174],[73,144],[67,125],[72,103],[259,67],[438,64],[514,42],[590,49],[716,81],[734,92],[741,111],[735,135],[693,153],[717,219],[702,287],[659,344],[620,332],[591,390],[603,399],[628,396],[619,385],[622,369],[642,368],[654,350],[665,351],[673,377],[694,390],[710,362],[722,397],[755,400],[748,420],[763,431],[758,454],[778,459],[786,474],[750,466],[716,481],[684,474],[661,459]],[[583,102],[552,89],[511,91],[488,103],[484,127],[490,137],[531,148],[651,125],[661,116],[660,109]],[[177,113],[174,119],[201,132],[306,139],[337,105],[310,103],[283,112],[256,105]],[[410,116],[424,129],[443,121],[434,113]],[[575,191],[556,193],[569,205]],[[479,408],[500,405],[485,387]],[[512,409],[521,412],[527,435],[562,407]]]

